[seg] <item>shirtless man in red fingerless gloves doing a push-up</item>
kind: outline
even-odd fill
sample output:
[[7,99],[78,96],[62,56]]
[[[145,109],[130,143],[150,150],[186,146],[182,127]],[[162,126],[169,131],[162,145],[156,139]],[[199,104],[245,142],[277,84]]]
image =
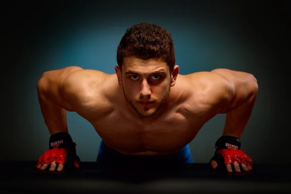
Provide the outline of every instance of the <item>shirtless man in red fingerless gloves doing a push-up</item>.
[[180,75],[175,62],[170,33],[140,23],[119,43],[116,74],[78,66],[44,72],[37,92],[51,136],[36,168],[80,167],[66,122],[66,112],[74,111],[102,138],[97,162],[112,164],[191,163],[189,143],[213,116],[226,113],[210,166],[252,170],[239,139],[258,94],[256,78],[229,69]]

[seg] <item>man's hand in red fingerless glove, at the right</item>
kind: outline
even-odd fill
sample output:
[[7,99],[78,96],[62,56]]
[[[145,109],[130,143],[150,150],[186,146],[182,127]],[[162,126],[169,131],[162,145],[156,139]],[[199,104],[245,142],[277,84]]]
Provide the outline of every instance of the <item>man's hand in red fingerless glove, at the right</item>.
[[212,169],[216,169],[218,165],[225,165],[227,172],[230,173],[233,172],[233,165],[235,172],[240,173],[241,167],[245,172],[252,170],[253,161],[242,150],[228,148],[218,150],[210,161],[210,165]]

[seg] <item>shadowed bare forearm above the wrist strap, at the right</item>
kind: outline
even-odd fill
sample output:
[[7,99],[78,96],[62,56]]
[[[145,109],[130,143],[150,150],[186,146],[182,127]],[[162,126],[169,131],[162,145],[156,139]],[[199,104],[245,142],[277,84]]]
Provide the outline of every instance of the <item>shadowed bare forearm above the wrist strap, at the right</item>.
[[254,87],[247,100],[242,103],[241,106],[226,113],[226,123],[223,130],[223,135],[230,135],[236,138],[240,138],[242,136],[243,130],[245,129],[253,111],[257,94],[258,88]]

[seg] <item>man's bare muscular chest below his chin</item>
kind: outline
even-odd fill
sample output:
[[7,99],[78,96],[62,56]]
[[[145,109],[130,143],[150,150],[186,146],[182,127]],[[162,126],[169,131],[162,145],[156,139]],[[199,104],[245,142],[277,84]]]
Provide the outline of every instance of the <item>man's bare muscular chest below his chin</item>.
[[99,136],[111,145],[125,146],[123,149],[135,145],[147,150],[183,146],[194,139],[202,126],[198,117],[189,118],[179,111],[169,111],[150,122],[140,122],[116,111],[94,124]]

